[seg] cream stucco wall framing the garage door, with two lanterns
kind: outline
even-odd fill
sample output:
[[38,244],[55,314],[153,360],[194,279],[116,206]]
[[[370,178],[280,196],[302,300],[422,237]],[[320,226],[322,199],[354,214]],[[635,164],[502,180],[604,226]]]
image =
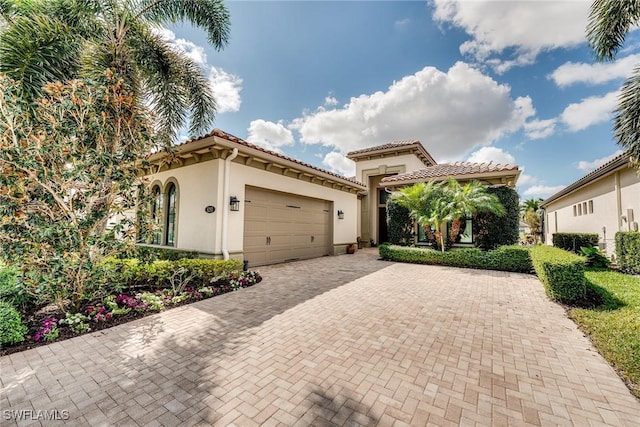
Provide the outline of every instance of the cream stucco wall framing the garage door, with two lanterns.
[[[247,185],[333,202],[333,211],[331,212],[333,245],[356,242],[358,199],[355,194],[232,163],[229,195],[236,196],[240,199],[240,211],[229,212],[228,246],[230,252],[242,251],[244,238],[244,199],[245,187]],[[219,196],[220,198],[222,197],[221,191]],[[220,199],[218,204],[221,207],[225,205]],[[228,205],[228,201],[226,201],[226,205]],[[228,208],[228,206],[225,206],[225,208]],[[344,212],[344,219],[338,219],[338,210]],[[221,241],[216,239],[216,242],[219,242],[219,246],[216,246],[216,252],[218,252],[221,250]],[[218,250],[217,248],[220,249]]]

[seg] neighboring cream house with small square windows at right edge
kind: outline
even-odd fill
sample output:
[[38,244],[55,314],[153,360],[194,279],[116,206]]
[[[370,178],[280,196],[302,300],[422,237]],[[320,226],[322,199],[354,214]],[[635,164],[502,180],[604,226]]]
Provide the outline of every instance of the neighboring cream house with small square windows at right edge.
[[608,255],[617,231],[638,230],[640,176],[621,154],[541,203],[545,242],[553,233],[596,233]]

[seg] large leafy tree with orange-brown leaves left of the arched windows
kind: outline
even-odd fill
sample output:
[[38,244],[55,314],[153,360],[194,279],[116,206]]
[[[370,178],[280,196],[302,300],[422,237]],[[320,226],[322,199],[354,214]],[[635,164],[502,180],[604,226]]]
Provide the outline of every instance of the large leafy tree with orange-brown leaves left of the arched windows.
[[48,84],[31,109],[0,74],[2,257],[39,302],[61,308],[99,290],[101,260],[137,225],[126,213],[140,203],[153,130],[123,81],[105,80]]

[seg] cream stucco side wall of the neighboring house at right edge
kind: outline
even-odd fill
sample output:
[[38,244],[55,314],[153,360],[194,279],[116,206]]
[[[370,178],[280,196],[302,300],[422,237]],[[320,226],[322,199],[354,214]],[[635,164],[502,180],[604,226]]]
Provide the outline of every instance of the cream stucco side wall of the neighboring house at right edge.
[[[616,178],[617,176],[617,178]],[[616,191],[616,179],[620,182],[620,191]],[[620,195],[620,203],[618,196]],[[593,200],[593,213],[581,216],[573,215],[573,206]],[[620,221],[621,215],[627,215],[632,209],[635,221],[640,220],[640,178],[631,168],[618,170],[599,180],[551,202],[545,207],[547,225],[545,238],[552,244],[552,235],[556,232],[597,233],[600,241],[606,243],[609,255],[615,253],[615,234],[628,230],[628,224]],[[557,216],[557,224],[555,217]],[[603,233],[603,227],[606,233]]]

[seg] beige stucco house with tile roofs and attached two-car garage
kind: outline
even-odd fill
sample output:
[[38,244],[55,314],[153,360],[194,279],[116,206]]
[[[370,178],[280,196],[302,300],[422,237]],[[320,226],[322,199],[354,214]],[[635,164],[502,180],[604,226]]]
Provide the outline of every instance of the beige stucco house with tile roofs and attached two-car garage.
[[386,240],[388,190],[428,179],[515,186],[515,165],[437,164],[419,141],[351,152],[346,178],[219,129],[150,156],[157,233],[147,243],[251,266],[345,253]]

